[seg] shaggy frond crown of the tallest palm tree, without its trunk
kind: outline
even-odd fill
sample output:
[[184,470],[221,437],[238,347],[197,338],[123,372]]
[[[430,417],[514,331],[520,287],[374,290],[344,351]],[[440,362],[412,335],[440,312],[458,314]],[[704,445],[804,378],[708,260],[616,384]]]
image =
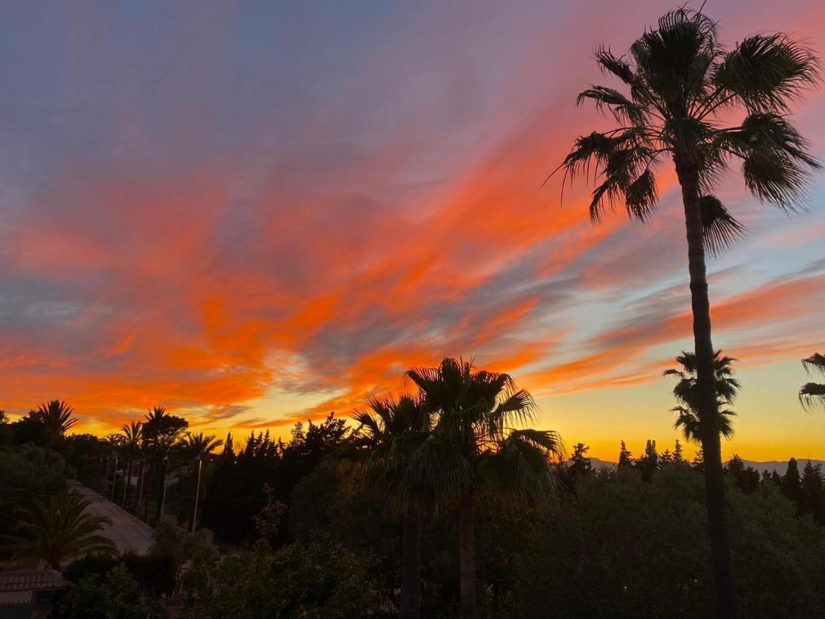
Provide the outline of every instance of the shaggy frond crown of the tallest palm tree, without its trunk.
[[[577,138],[559,167],[571,178],[589,174],[591,166],[601,176],[592,194],[592,220],[616,204],[647,220],[658,206],[656,171],[666,156],[698,174],[705,247],[711,252],[743,231],[709,194],[731,159],[742,162],[745,184],[759,200],[792,209],[803,196],[807,169],[819,164],[783,116],[818,81],[817,61],[803,45],[782,34],[753,35],[726,51],[713,21],[680,8],[636,40],[629,58],[601,47],[596,61],[629,88],[629,96],[592,86],[577,102],[592,100],[609,109],[620,127]],[[719,114],[732,108],[743,108],[746,116],[739,125],[723,126]]]

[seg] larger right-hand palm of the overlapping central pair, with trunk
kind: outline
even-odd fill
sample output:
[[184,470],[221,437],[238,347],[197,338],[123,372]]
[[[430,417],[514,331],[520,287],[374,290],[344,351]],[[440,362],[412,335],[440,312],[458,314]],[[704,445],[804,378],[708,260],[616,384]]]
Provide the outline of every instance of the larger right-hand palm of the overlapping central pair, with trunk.
[[458,508],[461,617],[471,619],[477,597],[474,498],[490,494],[524,504],[554,494],[554,461],[563,460],[561,439],[549,430],[514,428],[532,420],[535,403],[507,374],[445,359],[405,376],[437,416],[408,475],[413,484],[431,487],[435,502]]

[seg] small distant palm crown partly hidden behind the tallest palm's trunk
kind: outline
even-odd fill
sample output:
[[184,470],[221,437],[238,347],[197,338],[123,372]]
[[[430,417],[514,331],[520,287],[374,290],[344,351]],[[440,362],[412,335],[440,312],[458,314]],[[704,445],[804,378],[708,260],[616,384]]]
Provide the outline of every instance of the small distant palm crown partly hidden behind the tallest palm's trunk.
[[[733,437],[733,410],[724,408],[733,404],[741,384],[733,377],[733,357],[714,352],[714,376],[716,377],[716,408],[719,410],[719,433],[725,438]],[[699,416],[699,386],[696,377],[696,356],[693,352],[682,352],[676,357],[680,368],[670,368],[663,376],[677,376],[679,381],[673,387],[673,395],[681,404],[672,408],[676,413],[673,427],[681,428],[682,435],[692,442],[700,442],[702,437]]]

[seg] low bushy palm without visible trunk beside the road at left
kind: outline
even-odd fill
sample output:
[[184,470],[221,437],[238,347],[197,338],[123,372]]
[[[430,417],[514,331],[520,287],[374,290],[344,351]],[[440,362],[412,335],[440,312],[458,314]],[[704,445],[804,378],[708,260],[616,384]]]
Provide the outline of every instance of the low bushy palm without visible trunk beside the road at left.
[[88,504],[80,494],[50,496],[45,503],[32,499],[31,507],[21,510],[18,535],[5,536],[7,546],[16,559],[36,560],[51,569],[82,555],[114,555],[115,545],[99,533],[111,521],[86,513]]

